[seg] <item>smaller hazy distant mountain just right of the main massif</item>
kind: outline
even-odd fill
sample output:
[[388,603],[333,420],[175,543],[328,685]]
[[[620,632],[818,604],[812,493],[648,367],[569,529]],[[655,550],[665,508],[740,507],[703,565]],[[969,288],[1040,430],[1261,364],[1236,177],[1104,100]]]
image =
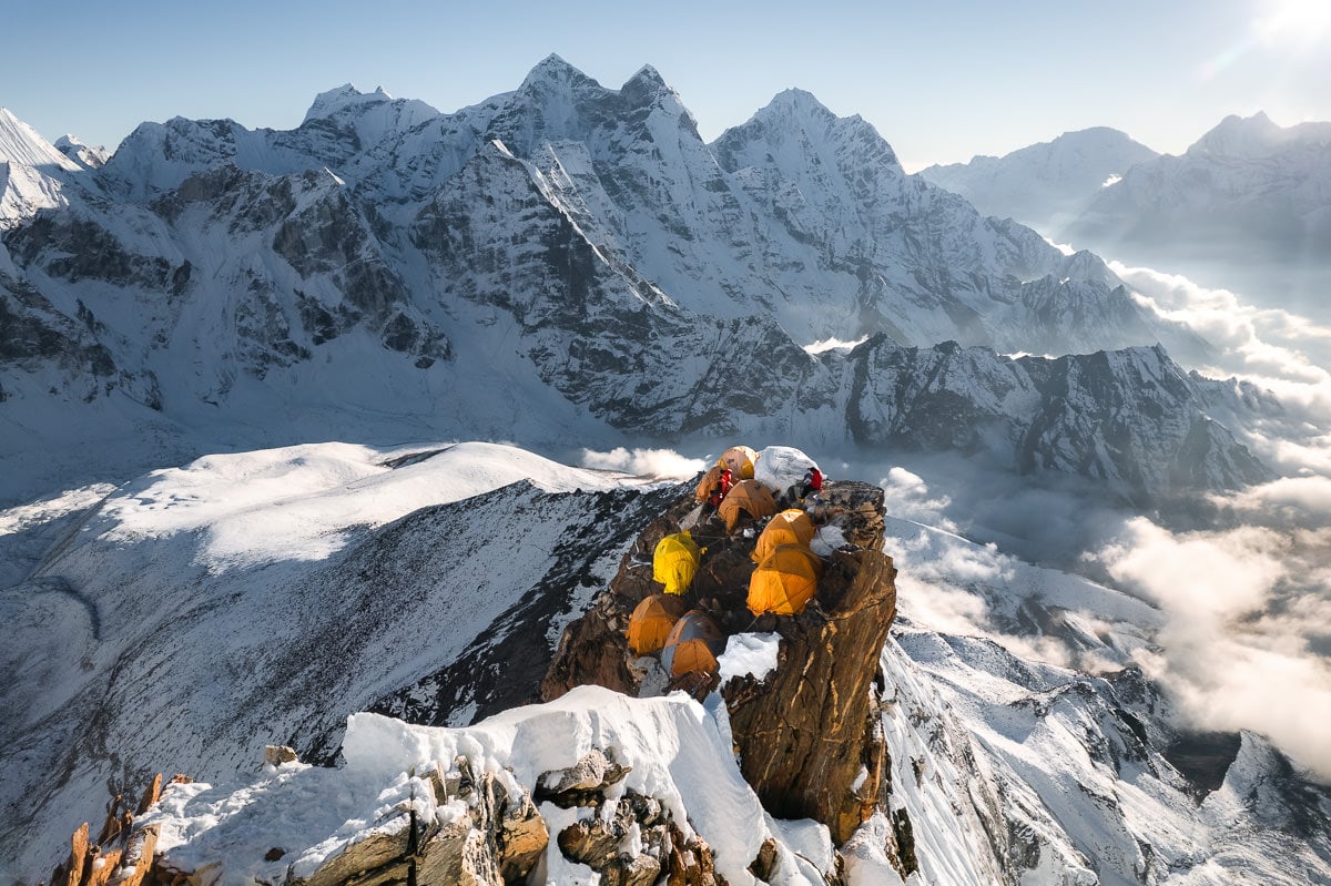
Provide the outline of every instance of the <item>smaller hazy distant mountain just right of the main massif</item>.
[[1117,129],[1097,126],[1004,157],[929,166],[920,177],[961,194],[985,216],[1012,217],[1054,235],[1110,182],[1159,154]]

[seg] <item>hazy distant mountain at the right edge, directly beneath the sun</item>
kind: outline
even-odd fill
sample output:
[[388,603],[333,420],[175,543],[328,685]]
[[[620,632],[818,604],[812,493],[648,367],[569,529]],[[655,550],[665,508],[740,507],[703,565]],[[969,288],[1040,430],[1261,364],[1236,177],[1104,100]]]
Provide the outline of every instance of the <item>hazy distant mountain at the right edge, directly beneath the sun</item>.
[[1062,234],[1138,261],[1303,263],[1331,255],[1331,124],[1226,117],[1182,156],[1138,164]]

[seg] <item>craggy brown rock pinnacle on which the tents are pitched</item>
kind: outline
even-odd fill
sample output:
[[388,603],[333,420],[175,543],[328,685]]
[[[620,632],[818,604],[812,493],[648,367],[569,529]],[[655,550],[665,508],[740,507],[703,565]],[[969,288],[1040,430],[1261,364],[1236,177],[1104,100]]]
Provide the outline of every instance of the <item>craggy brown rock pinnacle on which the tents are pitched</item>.
[[[624,631],[634,607],[659,591],[650,569],[656,543],[679,531],[691,506],[692,498],[681,496],[654,520],[624,555],[610,588],[564,631],[542,684],[543,698],[584,682],[631,694],[644,690],[644,672],[635,666]],[[745,608],[753,539],[727,536],[709,523],[693,531],[707,549],[685,604],[705,607],[729,633],[759,627],[780,635],[773,673],[721,688],[740,768],[769,813],[820,821],[841,843],[886,808],[874,681],[896,615],[896,569],[881,552],[881,488],[829,482],[815,519],[836,527],[845,543],[832,552],[817,596],[803,613],[755,619]],[[700,686],[691,681],[687,688]]]

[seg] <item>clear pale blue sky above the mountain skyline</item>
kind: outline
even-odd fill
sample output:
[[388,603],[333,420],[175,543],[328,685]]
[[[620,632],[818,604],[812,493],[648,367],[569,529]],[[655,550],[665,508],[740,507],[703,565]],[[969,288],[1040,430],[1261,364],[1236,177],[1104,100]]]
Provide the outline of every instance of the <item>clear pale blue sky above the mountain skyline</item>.
[[1331,0],[0,0],[0,106],[108,148],[173,116],[294,128],[343,82],[451,112],[551,52],[612,88],[651,64],[705,138],[799,86],[908,169],[1098,125],[1181,153],[1231,113],[1331,120]]

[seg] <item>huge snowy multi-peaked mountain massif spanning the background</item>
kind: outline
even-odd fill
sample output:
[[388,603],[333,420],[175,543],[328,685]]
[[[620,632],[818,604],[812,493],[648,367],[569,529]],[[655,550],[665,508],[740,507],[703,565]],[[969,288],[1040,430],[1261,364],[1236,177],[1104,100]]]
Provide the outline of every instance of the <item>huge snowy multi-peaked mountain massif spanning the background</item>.
[[[33,451],[88,464],[65,430],[91,391],[141,459],[293,435],[878,446],[845,431],[852,391],[912,384],[805,345],[1195,343],[1095,257],[905,176],[868,124],[797,90],[711,145],[651,68],[614,90],[556,57],[454,114],[346,86],[287,132],[144,124],[104,165],[5,132],[15,476],[40,474]],[[1025,463],[1122,474],[1078,467],[1098,460]],[[1222,474],[1206,482],[1243,482]]]

